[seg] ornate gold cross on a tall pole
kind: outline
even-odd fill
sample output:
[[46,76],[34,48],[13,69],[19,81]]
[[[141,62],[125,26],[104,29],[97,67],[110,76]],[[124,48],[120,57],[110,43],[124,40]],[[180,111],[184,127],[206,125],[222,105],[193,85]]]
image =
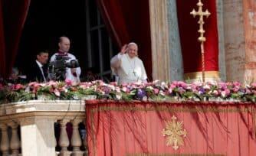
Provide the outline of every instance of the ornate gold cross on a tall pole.
[[201,42],[201,54],[202,54],[202,81],[205,83],[205,50],[204,50],[204,42],[206,41],[206,38],[204,37],[205,30],[203,28],[204,22],[204,16],[208,18],[211,13],[206,9],[206,11],[202,11],[202,2],[199,0],[199,2],[196,4],[199,7],[199,11],[195,11],[193,8],[192,12],[190,12],[191,15],[197,16],[199,15],[199,33],[200,37],[198,38],[199,42]]

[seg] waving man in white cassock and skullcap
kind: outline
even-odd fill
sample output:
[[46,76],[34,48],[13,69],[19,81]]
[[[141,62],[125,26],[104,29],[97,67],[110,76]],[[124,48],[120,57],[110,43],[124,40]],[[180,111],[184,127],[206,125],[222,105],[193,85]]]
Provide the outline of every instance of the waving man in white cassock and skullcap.
[[133,42],[124,45],[110,64],[113,75],[118,76],[118,84],[147,82],[143,61],[138,57],[138,46]]

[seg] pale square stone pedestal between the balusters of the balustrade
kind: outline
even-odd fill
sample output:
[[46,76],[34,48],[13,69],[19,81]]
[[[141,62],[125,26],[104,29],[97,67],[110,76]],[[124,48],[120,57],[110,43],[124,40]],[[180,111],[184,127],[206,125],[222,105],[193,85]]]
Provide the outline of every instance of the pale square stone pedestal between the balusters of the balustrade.
[[54,119],[30,117],[20,124],[22,155],[55,155]]

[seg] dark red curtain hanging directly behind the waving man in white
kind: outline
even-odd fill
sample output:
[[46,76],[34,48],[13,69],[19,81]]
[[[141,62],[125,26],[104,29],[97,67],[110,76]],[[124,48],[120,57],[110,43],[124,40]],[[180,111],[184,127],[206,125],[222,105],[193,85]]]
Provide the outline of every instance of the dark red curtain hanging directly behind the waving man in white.
[[108,31],[119,47],[131,41],[139,46],[149,80],[152,80],[152,56],[148,0],[97,0]]

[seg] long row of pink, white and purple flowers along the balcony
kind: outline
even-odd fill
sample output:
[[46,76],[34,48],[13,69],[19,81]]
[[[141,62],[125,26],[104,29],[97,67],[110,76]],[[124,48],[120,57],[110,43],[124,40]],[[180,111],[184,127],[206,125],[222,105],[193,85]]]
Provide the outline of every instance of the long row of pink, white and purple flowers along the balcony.
[[48,83],[32,82],[27,85],[0,83],[0,103],[31,99],[95,99],[114,100],[195,100],[195,101],[256,101],[256,83],[132,83],[117,85],[102,80],[84,83],[71,81]]

